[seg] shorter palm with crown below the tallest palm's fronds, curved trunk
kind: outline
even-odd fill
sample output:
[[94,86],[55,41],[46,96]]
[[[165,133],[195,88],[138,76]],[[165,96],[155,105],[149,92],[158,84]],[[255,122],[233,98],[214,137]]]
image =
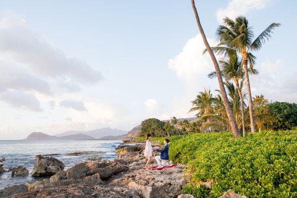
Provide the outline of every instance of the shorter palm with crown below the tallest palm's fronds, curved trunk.
[[[222,76],[225,77],[227,81],[233,80],[235,85],[236,85],[236,90],[239,94],[240,97],[240,102],[241,102],[241,116],[242,116],[242,130],[243,130],[243,135],[246,136],[246,123],[245,123],[245,102],[242,94],[242,90],[240,88],[240,81],[241,83],[244,81],[244,71],[241,66],[242,61],[240,58],[237,56],[235,53],[230,53],[228,59],[221,59],[219,60],[219,65],[221,69]],[[256,70],[250,71],[250,74],[257,74]],[[208,74],[209,78],[214,78],[216,77],[216,72],[213,71],[210,74]]]

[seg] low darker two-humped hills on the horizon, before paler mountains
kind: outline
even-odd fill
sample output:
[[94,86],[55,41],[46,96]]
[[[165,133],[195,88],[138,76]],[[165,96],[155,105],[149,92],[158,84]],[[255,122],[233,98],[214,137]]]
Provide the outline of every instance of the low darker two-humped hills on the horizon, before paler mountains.
[[25,140],[95,140],[95,138],[85,134],[75,134],[69,136],[49,136],[42,132],[31,133]]

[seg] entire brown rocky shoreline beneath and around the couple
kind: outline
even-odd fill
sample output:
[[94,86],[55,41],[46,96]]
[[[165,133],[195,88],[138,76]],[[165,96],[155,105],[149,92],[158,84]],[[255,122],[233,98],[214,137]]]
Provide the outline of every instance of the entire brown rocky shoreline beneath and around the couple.
[[[183,173],[186,165],[179,164],[161,171],[143,170],[145,145],[139,143],[142,142],[127,141],[118,146],[118,157],[114,161],[84,161],[67,170],[58,159],[37,155],[32,176],[51,177],[4,188],[0,191],[0,198],[194,198],[182,195],[182,187],[188,182]],[[156,142],[153,144],[158,145]],[[27,174],[24,167],[19,169]],[[18,173],[18,169],[12,171]],[[234,192],[227,193],[224,198],[239,196]]]

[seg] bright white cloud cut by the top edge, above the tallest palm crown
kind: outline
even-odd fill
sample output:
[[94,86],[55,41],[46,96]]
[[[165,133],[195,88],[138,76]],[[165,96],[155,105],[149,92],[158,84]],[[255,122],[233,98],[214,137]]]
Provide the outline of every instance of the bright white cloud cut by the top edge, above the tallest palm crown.
[[223,18],[228,16],[232,19],[245,15],[251,10],[263,9],[272,0],[230,0],[226,8],[217,10],[217,20],[222,23]]

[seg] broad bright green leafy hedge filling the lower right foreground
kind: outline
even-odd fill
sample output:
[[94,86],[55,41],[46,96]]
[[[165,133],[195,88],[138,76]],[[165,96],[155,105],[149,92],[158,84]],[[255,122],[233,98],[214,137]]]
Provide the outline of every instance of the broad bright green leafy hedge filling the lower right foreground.
[[[218,198],[228,189],[248,198],[297,197],[297,131],[231,133],[181,137],[170,144],[170,158],[187,163],[192,179],[185,193]],[[211,190],[201,182],[214,181]]]

